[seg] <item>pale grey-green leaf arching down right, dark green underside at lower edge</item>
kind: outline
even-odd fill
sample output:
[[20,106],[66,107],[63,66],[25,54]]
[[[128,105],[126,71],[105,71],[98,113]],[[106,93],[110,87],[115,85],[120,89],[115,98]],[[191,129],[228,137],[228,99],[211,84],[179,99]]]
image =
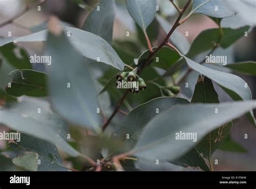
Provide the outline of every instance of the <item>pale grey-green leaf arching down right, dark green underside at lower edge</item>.
[[[207,68],[206,66],[200,65],[193,60],[183,56],[186,60],[186,63],[188,66],[190,66],[191,69],[199,72],[201,75],[204,75],[214,82],[216,82],[218,85],[220,85],[223,90],[228,93],[234,100],[251,100],[252,99],[252,93],[250,91],[250,88],[246,85],[246,82],[231,73],[221,72],[217,70],[213,70],[210,68]],[[255,120],[253,117],[252,111],[250,115],[250,121],[253,125],[255,125]]]

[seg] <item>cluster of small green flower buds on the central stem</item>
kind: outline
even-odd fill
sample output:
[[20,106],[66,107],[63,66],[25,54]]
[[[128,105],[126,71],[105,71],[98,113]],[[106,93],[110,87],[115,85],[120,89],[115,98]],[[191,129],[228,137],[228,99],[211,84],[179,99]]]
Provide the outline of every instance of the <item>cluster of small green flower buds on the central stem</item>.
[[122,80],[124,82],[134,82],[134,84],[137,86],[137,90],[132,87],[132,88],[129,88],[130,91],[132,93],[137,93],[139,92],[139,90],[145,90],[146,89],[146,83],[144,82],[144,79],[143,78],[140,78],[136,73],[134,73],[133,71],[131,72],[120,72],[118,73],[117,75],[117,82],[116,84],[118,85],[118,82],[122,82]]

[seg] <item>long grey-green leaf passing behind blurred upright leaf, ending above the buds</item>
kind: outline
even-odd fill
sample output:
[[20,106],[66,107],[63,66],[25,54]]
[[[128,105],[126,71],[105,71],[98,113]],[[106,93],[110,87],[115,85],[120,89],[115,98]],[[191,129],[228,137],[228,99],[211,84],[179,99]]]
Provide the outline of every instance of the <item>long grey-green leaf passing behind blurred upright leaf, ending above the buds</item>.
[[[109,64],[118,70],[123,70],[125,64],[119,58],[116,51],[103,38],[77,28],[63,26],[63,30],[69,35],[68,39],[75,49],[84,57]],[[68,33],[69,32],[69,33]],[[1,38],[0,46],[14,42],[40,42],[47,38],[48,30],[32,33],[22,37],[4,37]]]

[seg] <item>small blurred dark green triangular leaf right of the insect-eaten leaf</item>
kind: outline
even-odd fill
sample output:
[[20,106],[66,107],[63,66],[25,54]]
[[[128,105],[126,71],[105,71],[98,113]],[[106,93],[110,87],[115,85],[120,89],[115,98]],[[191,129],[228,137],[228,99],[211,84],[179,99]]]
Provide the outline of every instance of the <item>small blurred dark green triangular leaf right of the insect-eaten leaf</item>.
[[230,135],[228,135],[224,143],[219,146],[219,149],[229,152],[247,152],[247,150],[234,141]]

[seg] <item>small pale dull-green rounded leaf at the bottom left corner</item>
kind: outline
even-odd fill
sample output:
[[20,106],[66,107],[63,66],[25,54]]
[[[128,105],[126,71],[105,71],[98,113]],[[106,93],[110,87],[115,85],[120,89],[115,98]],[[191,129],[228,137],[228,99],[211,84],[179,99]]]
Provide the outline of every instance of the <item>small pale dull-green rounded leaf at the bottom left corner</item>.
[[27,171],[37,171],[37,160],[37,153],[23,153],[21,156],[14,158],[12,162],[17,166],[24,168]]

